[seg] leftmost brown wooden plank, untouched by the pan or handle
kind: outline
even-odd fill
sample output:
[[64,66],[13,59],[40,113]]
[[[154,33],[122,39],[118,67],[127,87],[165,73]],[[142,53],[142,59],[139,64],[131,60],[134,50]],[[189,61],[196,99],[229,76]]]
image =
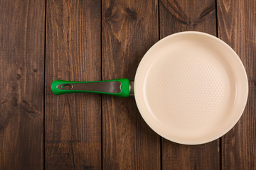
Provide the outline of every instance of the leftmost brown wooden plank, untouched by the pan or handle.
[[43,169],[45,1],[0,1],[0,169]]

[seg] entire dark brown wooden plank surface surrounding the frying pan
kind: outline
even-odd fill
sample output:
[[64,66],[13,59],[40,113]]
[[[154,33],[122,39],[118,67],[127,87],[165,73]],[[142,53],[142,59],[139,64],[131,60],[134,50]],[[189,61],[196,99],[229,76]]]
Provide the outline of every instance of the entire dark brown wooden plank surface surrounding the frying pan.
[[[256,1],[0,0],[0,169],[256,169]],[[219,140],[156,135],[133,97],[55,96],[54,79],[134,79],[146,50],[199,30],[240,56],[250,94]]]

